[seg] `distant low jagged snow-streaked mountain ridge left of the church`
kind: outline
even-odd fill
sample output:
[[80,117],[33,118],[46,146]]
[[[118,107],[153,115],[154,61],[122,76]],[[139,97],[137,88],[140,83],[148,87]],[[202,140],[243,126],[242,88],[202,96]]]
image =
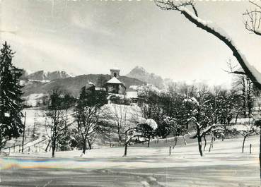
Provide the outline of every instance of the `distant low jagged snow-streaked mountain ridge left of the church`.
[[65,71],[36,71],[35,73],[30,73],[26,78],[29,80],[56,80],[60,78],[69,78],[71,77]]

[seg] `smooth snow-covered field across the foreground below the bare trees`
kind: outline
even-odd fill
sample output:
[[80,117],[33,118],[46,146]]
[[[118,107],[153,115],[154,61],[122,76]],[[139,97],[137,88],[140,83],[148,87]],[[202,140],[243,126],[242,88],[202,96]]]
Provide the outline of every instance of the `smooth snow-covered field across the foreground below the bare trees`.
[[[197,143],[168,147],[103,147],[1,158],[0,186],[260,186],[257,136],[217,140],[199,156]],[[249,145],[253,145],[249,154]],[[209,148],[209,145],[207,146]]]

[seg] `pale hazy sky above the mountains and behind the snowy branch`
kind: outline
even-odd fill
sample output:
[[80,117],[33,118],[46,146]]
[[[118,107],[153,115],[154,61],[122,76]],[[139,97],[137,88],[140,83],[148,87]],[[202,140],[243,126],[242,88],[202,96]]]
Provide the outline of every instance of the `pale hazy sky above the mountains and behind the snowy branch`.
[[[226,30],[250,64],[261,71],[261,37],[244,28],[248,1],[196,1],[199,18]],[[13,64],[30,71],[74,75],[129,73],[142,66],[174,81],[231,83],[224,70],[236,59],[214,36],[176,11],[153,1],[0,0],[0,42],[16,54]]]

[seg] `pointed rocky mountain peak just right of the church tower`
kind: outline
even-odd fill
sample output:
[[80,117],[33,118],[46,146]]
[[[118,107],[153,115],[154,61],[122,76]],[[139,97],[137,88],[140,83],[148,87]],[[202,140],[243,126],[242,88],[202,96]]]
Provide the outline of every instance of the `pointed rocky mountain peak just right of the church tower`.
[[137,78],[146,83],[155,85],[158,88],[164,88],[164,83],[161,76],[157,76],[154,73],[149,73],[141,66],[136,66],[126,76],[130,78]]

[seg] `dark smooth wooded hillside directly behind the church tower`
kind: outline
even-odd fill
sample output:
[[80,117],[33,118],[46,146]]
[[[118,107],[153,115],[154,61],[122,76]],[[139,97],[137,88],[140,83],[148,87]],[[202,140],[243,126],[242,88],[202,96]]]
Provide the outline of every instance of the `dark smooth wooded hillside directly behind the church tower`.
[[[69,78],[60,78],[57,80],[52,80],[47,83],[27,80],[27,83],[25,83],[25,86],[23,88],[23,93],[24,96],[35,94],[35,93],[48,93],[54,88],[59,87],[62,88],[63,90],[66,90],[71,95],[74,95],[74,97],[77,97],[83,85],[86,85],[88,82],[92,82],[95,85],[98,85],[99,77],[103,77],[105,80],[110,79],[109,75],[89,74],[89,75],[81,75],[81,76],[69,77]],[[121,76],[120,81],[122,81],[122,83],[125,84],[127,90],[129,90],[130,85],[146,84],[141,80],[137,80],[136,78],[129,78],[127,76]]]

